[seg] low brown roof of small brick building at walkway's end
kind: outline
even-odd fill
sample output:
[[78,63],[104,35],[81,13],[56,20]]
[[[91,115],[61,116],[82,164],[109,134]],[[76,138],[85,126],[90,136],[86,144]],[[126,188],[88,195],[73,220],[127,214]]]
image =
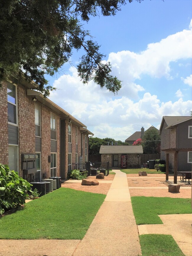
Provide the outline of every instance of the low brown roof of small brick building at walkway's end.
[[143,154],[143,147],[139,146],[116,146],[116,145],[101,145],[100,154]]

